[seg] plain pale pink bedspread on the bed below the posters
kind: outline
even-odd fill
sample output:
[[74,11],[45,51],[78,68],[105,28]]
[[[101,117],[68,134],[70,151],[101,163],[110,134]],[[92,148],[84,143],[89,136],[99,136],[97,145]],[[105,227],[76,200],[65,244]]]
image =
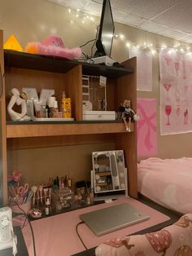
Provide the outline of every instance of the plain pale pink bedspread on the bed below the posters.
[[192,157],[150,157],[137,165],[138,191],[159,205],[192,213]]

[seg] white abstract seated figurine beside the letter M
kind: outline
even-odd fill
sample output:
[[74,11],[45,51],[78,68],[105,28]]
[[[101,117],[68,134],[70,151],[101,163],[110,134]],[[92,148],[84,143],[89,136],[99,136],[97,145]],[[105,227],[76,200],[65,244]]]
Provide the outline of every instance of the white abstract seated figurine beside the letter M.
[[[20,91],[16,88],[13,88],[11,90],[12,97],[10,99],[10,102],[7,106],[7,111],[11,117],[12,121],[29,121],[31,120],[31,117],[27,116],[27,104],[26,99],[23,99],[20,97]],[[17,104],[18,106],[21,106],[21,113],[17,113],[13,110],[13,106]]]

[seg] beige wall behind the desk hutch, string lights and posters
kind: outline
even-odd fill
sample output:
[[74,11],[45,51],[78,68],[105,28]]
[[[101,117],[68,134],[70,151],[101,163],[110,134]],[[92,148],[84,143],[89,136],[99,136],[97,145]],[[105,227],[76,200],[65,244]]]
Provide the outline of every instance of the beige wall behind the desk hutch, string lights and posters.
[[[71,24],[72,14],[68,13],[65,7],[59,7],[44,0],[0,0],[0,6],[0,29],[4,30],[4,40],[11,33],[14,33],[23,47],[27,42],[41,41],[52,33],[60,35],[67,47],[81,46],[95,38],[97,24],[100,20],[95,17],[94,22],[89,20],[89,22],[82,24],[80,19],[74,19],[73,24]],[[175,44],[175,41],[172,39],[158,36],[155,33],[147,33],[141,29],[135,29],[124,24],[116,24],[116,33],[124,33],[125,38],[140,45],[144,42],[151,42],[156,47],[161,46],[163,43],[166,43],[168,46]],[[92,43],[89,43],[88,46],[83,48],[83,51],[88,55],[90,55],[91,46]],[[114,40],[111,57],[119,62],[129,58],[129,50],[123,40]],[[152,92],[138,92],[137,96],[157,99],[157,156],[191,157],[191,133],[185,135],[159,135],[158,55],[153,57]],[[63,174],[63,171],[67,172],[70,170],[73,179],[88,179],[91,168],[89,153],[112,148],[112,144],[96,144],[81,145],[77,149],[74,146],[68,146],[63,148],[14,150],[10,151],[8,155],[9,170],[20,168],[24,173],[28,172],[28,179],[32,182],[43,182],[44,174],[53,176],[54,169],[55,174],[58,175]],[[79,152],[81,152],[81,157]],[[73,157],[71,159],[74,159],[74,161],[68,160],[70,159],[69,153],[71,153],[71,157]],[[49,161],[43,161],[44,156],[49,156],[46,158]],[[31,165],[26,166],[23,159],[28,160],[27,162],[30,162]],[[81,169],[76,170],[76,166],[78,168],[81,166]],[[34,177],[34,169],[37,169],[36,177]]]

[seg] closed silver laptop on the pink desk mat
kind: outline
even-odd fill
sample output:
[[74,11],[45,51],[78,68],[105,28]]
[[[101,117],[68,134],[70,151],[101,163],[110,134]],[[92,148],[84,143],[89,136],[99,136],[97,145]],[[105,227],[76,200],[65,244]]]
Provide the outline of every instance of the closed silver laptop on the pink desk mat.
[[81,214],[79,217],[97,236],[150,218],[150,216],[142,213],[141,210],[128,203],[94,210],[86,214]]

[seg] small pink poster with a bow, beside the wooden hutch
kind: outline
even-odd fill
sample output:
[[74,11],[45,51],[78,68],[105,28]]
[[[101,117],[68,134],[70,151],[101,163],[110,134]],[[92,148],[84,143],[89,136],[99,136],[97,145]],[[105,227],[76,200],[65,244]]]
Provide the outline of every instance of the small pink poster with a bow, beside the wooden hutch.
[[157,152],[156,99],[137,98],[137,157]]

